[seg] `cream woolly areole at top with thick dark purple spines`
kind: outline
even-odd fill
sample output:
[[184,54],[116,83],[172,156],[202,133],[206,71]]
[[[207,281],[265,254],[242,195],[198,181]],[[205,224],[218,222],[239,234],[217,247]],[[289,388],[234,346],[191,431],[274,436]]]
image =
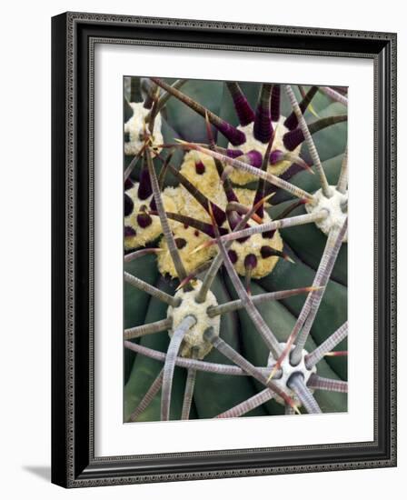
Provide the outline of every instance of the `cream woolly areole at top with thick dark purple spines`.
[[[289,132],[288,128],[283,125],[285,119],[286,119],[285,116],[282,115],[280,116],[278,122],[273,122],[273,129],[275,130],[275,136],[273,140],[272,151],[279,149],[280,151],[283,151],[283,153],[289,152],[283,144],[283,135],[286,132]],[[243,151],[243,153],[249,153],[249,151],[255,149],[256,151],[259,151],[263,156],[265,154],[268,144],[267,143],[263,144],[254,138],[253,125],[254,123],[244,126],[242,125],[237,126],[238,130],[241,130],[243,134],[246,136],[246,142],[243,143],[243,145],[228,144],[227,145],[228,149],[240,149],[241,151]],[[300,151],[301,151],[301,145],[297,145],[297,147],[291,153],[293,155],[298,156],[300,155]],[[292,164],[293,164],[292,161],[285,160],[282,162],[278,162],[275,165],[268,165],[267,172],[273,175],[282,175],[287,170],[287,168]],[[231,172],[229,176],[232,182],[238,185],[251,183],[258,178],[255,175],[248,174],[247,172],[243,172],[243,170],[238,170],[237,168],[233,169],[233,172]]]

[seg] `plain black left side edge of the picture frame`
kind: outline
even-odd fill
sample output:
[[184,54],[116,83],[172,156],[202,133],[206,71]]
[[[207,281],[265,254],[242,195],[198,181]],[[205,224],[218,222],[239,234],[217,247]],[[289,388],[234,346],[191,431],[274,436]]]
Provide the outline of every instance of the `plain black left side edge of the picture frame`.
[[52,444],[51,481],[67,486],[66,347],[65,347],[65,168],[66,164],[66,25],[67,15],[52,18]]

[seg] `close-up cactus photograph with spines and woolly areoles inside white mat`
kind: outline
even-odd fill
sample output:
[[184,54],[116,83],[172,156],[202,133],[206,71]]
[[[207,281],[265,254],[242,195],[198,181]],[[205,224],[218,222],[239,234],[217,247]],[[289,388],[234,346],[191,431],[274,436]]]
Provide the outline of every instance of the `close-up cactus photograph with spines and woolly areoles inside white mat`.
[[124,421],[347,411],[344,90],[124,83]]

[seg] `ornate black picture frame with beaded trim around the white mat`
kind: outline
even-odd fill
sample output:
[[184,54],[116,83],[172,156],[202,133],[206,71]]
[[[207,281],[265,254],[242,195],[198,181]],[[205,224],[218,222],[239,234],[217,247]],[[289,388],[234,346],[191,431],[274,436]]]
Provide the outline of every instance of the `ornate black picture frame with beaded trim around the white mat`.
[[[94,48],[143,45],[372,60],[373,439],[95,455]],[[125,15],[52,20],[52,481],[64,487],[396,465],[396,35]],[[361,312],[362,314],[362,312]]]

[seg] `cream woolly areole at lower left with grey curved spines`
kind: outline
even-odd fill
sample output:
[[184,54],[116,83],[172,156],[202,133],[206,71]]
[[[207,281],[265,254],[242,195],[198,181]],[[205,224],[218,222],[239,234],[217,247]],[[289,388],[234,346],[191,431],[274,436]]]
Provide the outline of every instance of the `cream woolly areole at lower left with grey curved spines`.
[[193,315],[196,323],[184,335],[184,340],[181,345],[180,354],[184,357],[195,357],[203,359],[205,355],[209,354],[213,345],[204,340],[204,332],[211,326],[216,336],[219,336],[221,327],[221,316],[215,315],[209,317],[207,314],[208,307],[217,305],[216,297],[209,290],[206,294],[206,299],[202,304],[198,304],[195,300],[202,285],[202,281],[196,280],[194,289],[190,292],[184,292],[183,289],[179,290],[174,298],[180,298],[181,304],[178,307],[170,305],[167,310],[167,317],[173,318],[173,327],[168,331],[170,336],[173,335],[174,330],[186,316]]

